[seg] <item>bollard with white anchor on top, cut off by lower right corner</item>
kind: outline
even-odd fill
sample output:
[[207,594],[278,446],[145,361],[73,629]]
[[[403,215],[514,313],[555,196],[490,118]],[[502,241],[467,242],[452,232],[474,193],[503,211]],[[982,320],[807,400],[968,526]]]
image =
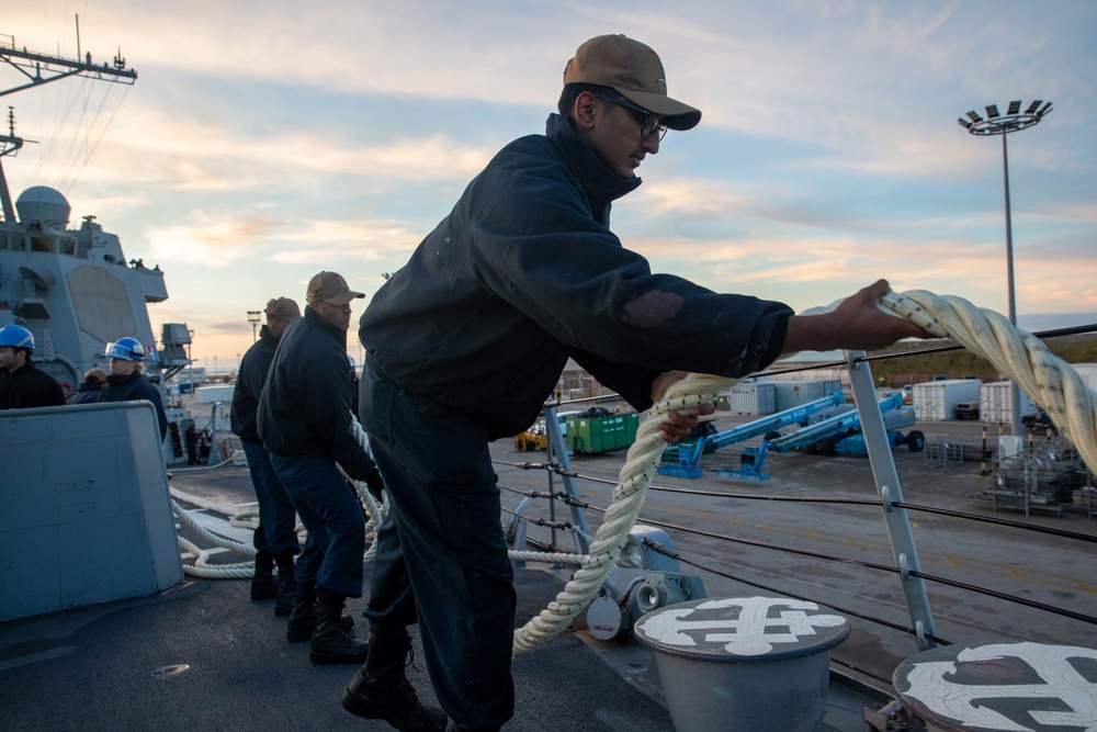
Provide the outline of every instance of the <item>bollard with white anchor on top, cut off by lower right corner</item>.
[[892,676],[900,700],[931,732],[1092,730],[1097,651],[1042,643],[929,649]]

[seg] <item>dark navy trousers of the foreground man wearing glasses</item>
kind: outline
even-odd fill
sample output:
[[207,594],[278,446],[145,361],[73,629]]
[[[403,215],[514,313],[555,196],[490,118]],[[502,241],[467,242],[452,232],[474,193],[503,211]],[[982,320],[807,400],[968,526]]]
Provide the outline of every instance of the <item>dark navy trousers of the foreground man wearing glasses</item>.
[[361,419],[389,510],[365,615],[418,620],[442,709],[457,730],[498,730],[514,713],[516,595],[487,426],[369,369]]

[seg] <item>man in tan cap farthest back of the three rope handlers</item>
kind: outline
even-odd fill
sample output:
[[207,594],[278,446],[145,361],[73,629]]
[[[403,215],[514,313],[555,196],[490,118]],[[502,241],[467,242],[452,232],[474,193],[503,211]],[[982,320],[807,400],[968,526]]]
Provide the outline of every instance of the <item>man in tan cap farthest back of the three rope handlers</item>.
[[[251,599],[273,598],[274,613],[289,616],[296,594],[293,558],[301,552],[295,530],[297,517],[285,486],[271,466],[270,455],[263,450],[256,416],[274,351],[285,329],[301,317],[301,308],[289,297],[274,297],[267,303],[264,312],[267,325],[259,329],[259,340],[240,359],[236,390],[233,392],[231,419],[233,431],[240,438],[244,454],[248,458],[248,471],[259,502],[259,526],[252,537],[256,574],[251,579]],[[275,564],[278,582],[273,573]],[[313,624],[316,624],[315,616]]]

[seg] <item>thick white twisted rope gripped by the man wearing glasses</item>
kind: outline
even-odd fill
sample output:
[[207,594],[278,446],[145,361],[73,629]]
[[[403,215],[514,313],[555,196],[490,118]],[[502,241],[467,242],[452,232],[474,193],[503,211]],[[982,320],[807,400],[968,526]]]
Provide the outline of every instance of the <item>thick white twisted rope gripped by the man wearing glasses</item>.
[[[952,338],[1009,375],[1051,416],[1089,469],[1097,470],[1097,394],[1038,338],[1014,327],[1002,315],[952,295],[924,290],[887,293],[880,307],[935,336]],[[686,414],[692,407],[708,404],[739,381],[690,374],[671,385],[663,401],[652,407],[637,429],[636,441],[629,448],[613,502],[596,532],[590,553],[556,599],[514,631],[514,654],[532,651],[552,639],[597,596],[640,515],[665,447],[659,425],[666,415],[671,410]]]

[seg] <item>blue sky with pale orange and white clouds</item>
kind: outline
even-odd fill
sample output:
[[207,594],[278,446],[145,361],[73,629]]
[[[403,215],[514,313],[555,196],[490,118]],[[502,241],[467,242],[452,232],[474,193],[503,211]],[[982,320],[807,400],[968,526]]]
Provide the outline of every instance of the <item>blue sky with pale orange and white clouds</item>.
[[[139,78],[4,97],[37,140],[4,158],[9,188],[56,188],[159,264],[154,329],[188,323],[200,364],[235,362],[247,311],[304,304],[319,270],[372,295],[498,148],[544,131],[604,33],[654,47],[703,112],[614,204],[656,271],[798,311],[883,277],[1006,313],[1002,137],[957,119],[1050,100],[1007,140],[1018,316],[1097,322],[1093,0],[0,0],[0,44],[76,58],[75,15],[79,55]],[[0,90],[23,80],[0,65]]]

